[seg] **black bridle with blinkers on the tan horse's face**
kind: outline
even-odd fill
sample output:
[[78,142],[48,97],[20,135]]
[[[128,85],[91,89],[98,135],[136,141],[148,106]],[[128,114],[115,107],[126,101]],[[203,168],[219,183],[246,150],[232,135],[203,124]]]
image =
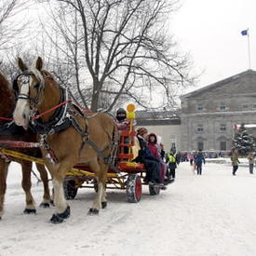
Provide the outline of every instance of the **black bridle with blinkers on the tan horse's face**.
[[[39,99],[41,96],[41,91],[44,88],[43,83],[38,84],[35,86],[37,88],[37,94],[34,98],[30,97],[30,95],[24,94],[24,93],[20,93],[19,94],[19,88],[18,88],[18,79],[19,77],[21,77],[22,79],[22,86],[23,85],[28,85],[28,87],[30,88],[30,78],[34,73],[31,71],[24,71],[21,74],[18,74],[17,77],[15,78],[15,80],[13,81],[13,89],[17,92],[18,96],[16,97],[17,100],[26,100],[26,101],[30,101],[33,102],[34,105],[37,105],[39,103]],[[35,74],[34,74],[35,75]]]

